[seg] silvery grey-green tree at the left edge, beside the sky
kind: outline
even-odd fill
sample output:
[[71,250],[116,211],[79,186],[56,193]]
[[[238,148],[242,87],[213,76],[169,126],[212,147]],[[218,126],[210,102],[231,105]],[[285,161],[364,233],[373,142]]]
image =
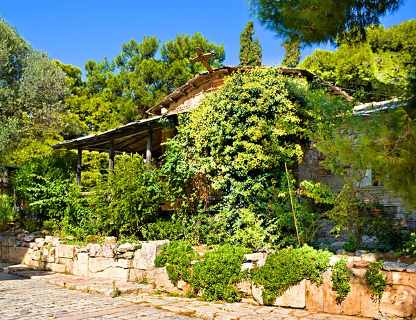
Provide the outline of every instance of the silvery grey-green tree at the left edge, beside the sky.
[[0,160],[20,139],[58,132],[69,94],[65,74],[45,53],[35,51],[0,17]]

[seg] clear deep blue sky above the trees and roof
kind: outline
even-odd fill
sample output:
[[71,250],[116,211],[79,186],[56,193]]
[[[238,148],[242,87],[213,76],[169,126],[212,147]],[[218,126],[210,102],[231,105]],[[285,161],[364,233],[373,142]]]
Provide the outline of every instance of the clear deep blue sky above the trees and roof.
[[[2,1],[0,12],[35,48],[83,71],[89,59],[113,59],[130,39],[140,42],[156,35],[163,43],[178,33],[196,32],[225,45],[225,64],[239,64],[239,36],[254,19],[246,0],[21,0]],[[415,17],[416,0],[407,0],[382,22],[388,27]],[[263,46],[263,64],[278,65],[284,56],[281,39],[257,22],[254,28]],[[307,48],[302,55],[311,52],[313,48]]]

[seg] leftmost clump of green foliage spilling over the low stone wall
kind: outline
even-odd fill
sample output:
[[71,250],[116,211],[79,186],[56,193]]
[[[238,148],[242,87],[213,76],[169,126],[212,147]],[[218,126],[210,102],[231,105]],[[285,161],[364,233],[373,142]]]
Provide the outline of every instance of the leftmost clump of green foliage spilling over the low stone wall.
[[191,282],[191,261],[198,258],[190,242],[171,241],[163,245],[162,251],[155,259],[155,266],[166,266],[169,278],[177,285],[177,281],[180,280]]

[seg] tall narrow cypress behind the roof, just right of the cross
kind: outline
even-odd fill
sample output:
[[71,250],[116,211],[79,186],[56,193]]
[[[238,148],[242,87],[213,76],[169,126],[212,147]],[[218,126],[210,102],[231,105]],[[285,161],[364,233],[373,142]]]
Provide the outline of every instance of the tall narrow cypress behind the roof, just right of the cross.
[[253,39],[254,23],[248,21],[240,35],[240,65],[261,66],[261,45],[259,39]]

